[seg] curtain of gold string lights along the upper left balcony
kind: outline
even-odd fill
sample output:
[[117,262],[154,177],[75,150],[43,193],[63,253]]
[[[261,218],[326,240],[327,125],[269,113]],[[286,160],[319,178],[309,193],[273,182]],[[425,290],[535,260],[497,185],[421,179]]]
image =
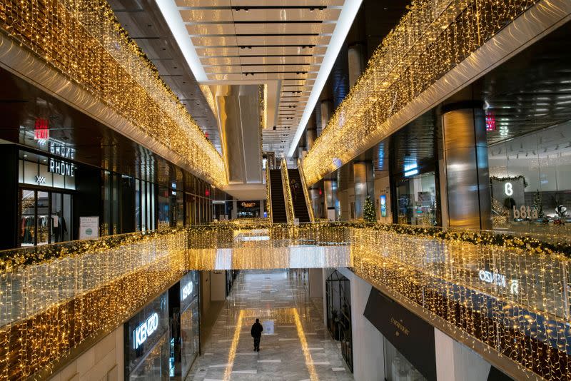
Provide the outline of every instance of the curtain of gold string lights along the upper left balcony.
[[0,31],[78,83],[196,175],[226,185],[218,151],[105,0],[6,0]]

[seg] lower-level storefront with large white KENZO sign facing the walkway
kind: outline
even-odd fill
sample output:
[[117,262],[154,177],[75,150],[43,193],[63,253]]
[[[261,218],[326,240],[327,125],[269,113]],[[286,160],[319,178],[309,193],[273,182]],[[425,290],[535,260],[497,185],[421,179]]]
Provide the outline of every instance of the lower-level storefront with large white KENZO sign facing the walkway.
[[167,292],[125,323],[125,380],[169,380],[168,321]]

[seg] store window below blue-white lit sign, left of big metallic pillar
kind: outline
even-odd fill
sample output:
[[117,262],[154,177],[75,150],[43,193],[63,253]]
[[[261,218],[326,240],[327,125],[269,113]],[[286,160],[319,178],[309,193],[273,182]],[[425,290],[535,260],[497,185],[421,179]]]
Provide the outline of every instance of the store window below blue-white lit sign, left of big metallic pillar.
[[396,190],[398,223],[422,226],[437,225],[434,172],[405,177],[398,182]]

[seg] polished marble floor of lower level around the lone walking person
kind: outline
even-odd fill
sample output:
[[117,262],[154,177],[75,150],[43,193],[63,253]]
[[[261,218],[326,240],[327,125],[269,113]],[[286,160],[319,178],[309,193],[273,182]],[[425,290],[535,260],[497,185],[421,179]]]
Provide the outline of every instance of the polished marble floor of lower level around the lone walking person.
[[[323,326],[323,300],[308,297],[306,274],[243,270],[187,380],[353,380]],[[250,328],[264,326],[260,352]]]

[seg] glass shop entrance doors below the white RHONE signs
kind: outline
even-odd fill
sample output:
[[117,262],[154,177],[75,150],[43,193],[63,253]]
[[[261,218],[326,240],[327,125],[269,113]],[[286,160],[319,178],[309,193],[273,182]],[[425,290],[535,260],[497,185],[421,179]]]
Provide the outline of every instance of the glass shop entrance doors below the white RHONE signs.
[[72,239],[71,195],[20,189],[21,246],[46,245]]

